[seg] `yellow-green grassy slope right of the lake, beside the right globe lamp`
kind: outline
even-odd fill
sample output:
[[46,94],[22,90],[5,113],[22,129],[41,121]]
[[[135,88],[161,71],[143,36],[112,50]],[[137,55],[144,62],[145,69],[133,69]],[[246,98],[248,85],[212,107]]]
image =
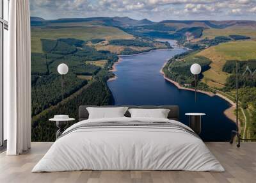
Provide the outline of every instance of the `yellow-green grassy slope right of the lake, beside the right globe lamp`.
[[227,60],[250,60],[256,58],[256,41],[246,40],[228,42],[214,47],[209,47],[197,55],[205,56],[212,60],[211,69],[204,72],[203,81],[211,87],[222,88],[228,74],[222,71]]

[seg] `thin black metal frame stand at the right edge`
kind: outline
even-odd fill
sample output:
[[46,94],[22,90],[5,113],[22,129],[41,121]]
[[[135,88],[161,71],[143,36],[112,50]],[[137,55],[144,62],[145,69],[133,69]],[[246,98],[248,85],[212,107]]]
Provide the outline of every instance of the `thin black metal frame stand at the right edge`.
[[[235,136],[237,136],[238,139],[238,143],[237,143],[237,147],[240,147],[240,142],[241,140],[244,141],[255,141],[256,139],[244,139],[241,138],[241,134],[239,132],[239,125],[238,125],[238,109],[239,109],[239,96],[238,96],[238,64],[239,63],[255,63],[255,61],[236,61],[236,130],[231,132],[231,139],[230,139],[230,143],[232,144],[234,141]],[[246,67],[246,70],[248,69],[248,66]],[[246,72],[246,70],[244,71],[244,73]],[[252,72],[250,72],[250,74],[252,75]]]

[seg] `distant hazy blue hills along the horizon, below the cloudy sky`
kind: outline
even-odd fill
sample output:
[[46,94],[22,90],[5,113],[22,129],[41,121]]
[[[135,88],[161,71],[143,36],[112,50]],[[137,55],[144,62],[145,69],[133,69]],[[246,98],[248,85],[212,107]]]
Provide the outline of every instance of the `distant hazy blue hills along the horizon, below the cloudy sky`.
[[[133,36],[176,39],[180,43],[200,38],[214,38],[214,36],[227,35],[228,33],[230,35],[256,37],[256,22],[249,20],[163,20],[161,22],[152,22],[148,19],[135,20],[129,17],[90,17],[56,20],[31,17],[31,26],[51,27],[52,29],[105,26],[118,28],[120,31]],[[102,38],[100,34],[99,38]]]

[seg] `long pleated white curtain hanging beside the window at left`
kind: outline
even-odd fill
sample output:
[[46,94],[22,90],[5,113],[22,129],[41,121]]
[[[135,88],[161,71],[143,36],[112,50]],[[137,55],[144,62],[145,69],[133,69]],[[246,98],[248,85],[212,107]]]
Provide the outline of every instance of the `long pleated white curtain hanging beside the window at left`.
[[8,155],[31,144],[31,42],[29,0],[10,1],[9,60],[4,63],[4,120]]

